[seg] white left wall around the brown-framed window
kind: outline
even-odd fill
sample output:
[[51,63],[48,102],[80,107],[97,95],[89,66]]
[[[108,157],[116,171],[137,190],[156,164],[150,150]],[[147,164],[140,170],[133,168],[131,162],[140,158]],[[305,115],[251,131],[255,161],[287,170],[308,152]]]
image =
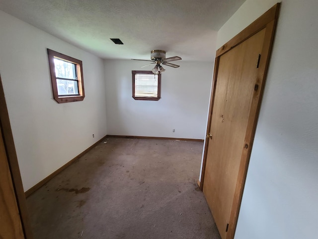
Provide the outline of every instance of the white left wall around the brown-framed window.
[[[53,100],[47,48],[82,60],[84,101]],[[0,74],[24,190],[106,135],[100,58],[0,11]]]

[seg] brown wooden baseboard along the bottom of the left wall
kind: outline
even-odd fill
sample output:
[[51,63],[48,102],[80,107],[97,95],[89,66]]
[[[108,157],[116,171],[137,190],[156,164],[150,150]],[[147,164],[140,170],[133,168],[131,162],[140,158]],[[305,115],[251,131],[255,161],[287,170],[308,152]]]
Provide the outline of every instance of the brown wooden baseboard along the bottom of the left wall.
[[[106,137],[106,136],[105,136]],[[60,167],[58,170],[54,171],[53,173],[51,173],[49,176],[47,176],[46,178],[44,178],[43,180],[41,180],[40,182],[38,182],[37,184],[35,184],[32,188],[30,188],[29,190],[27,190],[24,194],[25,197],[29,197],[32,193],[34,193],[36,190],[38,190],[39,188],[41,188],[44,184],[46,184],[47,182],[49,182],[52,178],[54,178],[56,175],[58,175],[60,172],[62,172],[64,169],[66,169],[67,167],[69,167],[72,163],[74,163],[76,160],[78,160],[81,156],[83,156],[85,153],[87,153],[89,150],[91,150],[93,147],[95,147],[98,143],[100,143],[102,140],[105,139],[105,137],[102,137],[101,139],[99,139],[96,143],[94,143],[93,145],[91,145],[90,147],[88,147],[87,149],[85,149],[84,151],[82,151],[79,155],[77,155],[75,158],[73,158],[71,161],[67,162],[66,164],[64,164],[62,167]]]

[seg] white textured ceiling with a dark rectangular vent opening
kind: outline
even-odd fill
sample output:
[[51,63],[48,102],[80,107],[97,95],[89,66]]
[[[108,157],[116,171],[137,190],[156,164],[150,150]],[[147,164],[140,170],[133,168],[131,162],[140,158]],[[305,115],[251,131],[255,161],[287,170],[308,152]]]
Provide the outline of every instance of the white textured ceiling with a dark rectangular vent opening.
[[104,59],[150,59],[162,49],[213,61],[217,31],[244,1],[0,0],[0,9]]

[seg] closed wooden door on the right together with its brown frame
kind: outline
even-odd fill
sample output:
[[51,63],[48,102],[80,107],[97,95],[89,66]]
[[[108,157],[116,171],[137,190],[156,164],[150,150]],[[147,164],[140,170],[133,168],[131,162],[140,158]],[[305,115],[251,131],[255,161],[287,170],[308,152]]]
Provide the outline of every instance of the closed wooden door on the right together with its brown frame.
[[[234,238],[279,4],[217,52],[203,187],[222,239]],[[251,30],[252,29],[252,30]],[[235,43],[235,44],[234,44]]]

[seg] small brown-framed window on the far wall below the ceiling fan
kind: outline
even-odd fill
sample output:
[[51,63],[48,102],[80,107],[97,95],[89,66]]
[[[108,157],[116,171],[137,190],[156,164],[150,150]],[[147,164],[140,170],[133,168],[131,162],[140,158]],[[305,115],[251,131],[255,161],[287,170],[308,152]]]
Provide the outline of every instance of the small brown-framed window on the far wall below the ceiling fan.
[[161,74],[152,71],[132,71],[133,98],[135,100],[158,101],[160,99]]

